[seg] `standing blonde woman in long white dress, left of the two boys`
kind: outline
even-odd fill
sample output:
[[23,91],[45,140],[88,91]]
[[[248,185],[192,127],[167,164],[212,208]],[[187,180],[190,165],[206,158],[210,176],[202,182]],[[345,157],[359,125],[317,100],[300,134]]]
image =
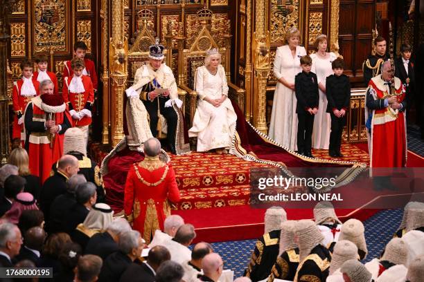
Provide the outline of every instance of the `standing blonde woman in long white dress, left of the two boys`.
[[290,28],[285,39],[288,44],[277,48],[274,60],[274,76],[278,82],[274,92],[269,135],[286,149],[294,151],[297,146],[294,76],[301,72],[300,57],[306,55],[306,50],[299,46],[300,32],[297,28]]

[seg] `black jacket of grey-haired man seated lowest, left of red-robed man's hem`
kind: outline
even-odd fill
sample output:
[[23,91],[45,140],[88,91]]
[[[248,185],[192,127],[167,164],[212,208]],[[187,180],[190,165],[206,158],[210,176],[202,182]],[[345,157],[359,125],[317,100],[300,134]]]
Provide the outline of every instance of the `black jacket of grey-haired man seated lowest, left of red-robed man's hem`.
[[122,274],[132,264],[129,256],[123,252],[115,252],[103,262],[102,270],[98,276],[98,282],[116,282],[121,279]]

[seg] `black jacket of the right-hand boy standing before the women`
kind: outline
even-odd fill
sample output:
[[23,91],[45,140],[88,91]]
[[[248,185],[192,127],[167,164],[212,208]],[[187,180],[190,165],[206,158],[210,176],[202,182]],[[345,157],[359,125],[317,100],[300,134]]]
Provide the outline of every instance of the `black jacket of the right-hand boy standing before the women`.
[[326,79],[327,113],[333,109],[347,110],[351,100],[351,82],[346,75],[329,75]]

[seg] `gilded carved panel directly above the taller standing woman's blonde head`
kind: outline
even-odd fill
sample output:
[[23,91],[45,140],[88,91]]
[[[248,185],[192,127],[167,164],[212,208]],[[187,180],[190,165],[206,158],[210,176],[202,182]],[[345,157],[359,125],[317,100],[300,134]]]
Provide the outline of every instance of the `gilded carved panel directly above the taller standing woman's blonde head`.
[[292,26],[299,28],[301,0],[271,0],[271,42],[283,42]]

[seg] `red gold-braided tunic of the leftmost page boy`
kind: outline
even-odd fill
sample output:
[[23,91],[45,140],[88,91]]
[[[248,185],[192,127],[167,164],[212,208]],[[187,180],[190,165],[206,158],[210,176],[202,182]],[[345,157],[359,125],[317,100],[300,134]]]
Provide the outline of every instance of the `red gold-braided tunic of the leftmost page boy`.
[[[39,82],[37,82],[37,79],[33,77],[32,82],[34,84],[35,93],[39,95],[38,93],[38,87]],[[24,141],[24,124],[18,124],[19,118],[21,118],[22,115],[24,115],[24,111],[26,108],[26,105],[28,102],[33,99],[36,95],[33,96],[23,96],[21,95],[21,88],[24,84],[24,80],[19,79],[17,82],[13,85],[13,91],[12,91],[12,103],[13,103],[13,111],[15,111],[16,115],[13,117],[13,125],[12,125],[12,139],[19,138],[20,140]]]

